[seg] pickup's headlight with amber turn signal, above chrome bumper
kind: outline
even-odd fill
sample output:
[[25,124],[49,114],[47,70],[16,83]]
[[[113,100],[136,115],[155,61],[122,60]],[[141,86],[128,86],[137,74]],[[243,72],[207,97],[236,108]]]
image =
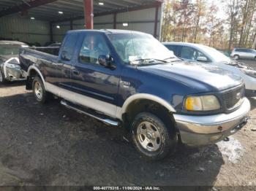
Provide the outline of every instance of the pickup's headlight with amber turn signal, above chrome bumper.
[[213,111],[220,109],[219,101],[214,95],[189,96],[185,103],[188,111]]

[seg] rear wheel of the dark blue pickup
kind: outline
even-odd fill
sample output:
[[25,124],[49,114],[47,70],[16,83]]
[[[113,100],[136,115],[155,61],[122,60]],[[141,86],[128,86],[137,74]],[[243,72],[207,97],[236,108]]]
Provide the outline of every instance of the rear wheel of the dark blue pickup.
[[34,97],[40,104],[47,103],[49,99],[49,93],[45,91],[45,85],[40,77],[35,77],[32,83],[32,90]]

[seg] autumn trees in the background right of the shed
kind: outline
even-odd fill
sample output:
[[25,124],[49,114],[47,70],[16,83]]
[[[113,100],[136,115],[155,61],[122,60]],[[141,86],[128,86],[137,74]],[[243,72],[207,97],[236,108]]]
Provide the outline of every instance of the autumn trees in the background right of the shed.
[[256,0],[165,0],[161,39],[256,49]]

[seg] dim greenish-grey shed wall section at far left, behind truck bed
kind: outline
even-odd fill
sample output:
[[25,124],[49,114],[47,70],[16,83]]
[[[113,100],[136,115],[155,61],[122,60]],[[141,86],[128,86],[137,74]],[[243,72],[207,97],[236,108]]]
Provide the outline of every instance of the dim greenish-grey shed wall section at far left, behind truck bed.
[[17,15],[0,17],[0,39],[44,45],[50,41],[50,26],[46,21],[20,18]]

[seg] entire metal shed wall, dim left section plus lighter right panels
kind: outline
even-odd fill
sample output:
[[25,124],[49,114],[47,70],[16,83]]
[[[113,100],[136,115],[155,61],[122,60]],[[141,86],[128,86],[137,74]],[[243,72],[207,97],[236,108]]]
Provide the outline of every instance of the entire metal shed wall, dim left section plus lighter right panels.
[[[148,34],[154,34],[154,19],[155,8],[142,9],[133,12],[121,12],[116,15],[116,28],[134,31],[143,31]],[[160,8],[159,20],[157,25],[157,37],[159,36],[160,23]],[[114,15],[104,15],[94,17],[94,28],[113,28]],[[128,23],[128,26],[123,26],[123,23]],[[56,28],[56,26],[60,28]],[[84,20],[74,20],[72,28],[83,29]],[[55,23],[53,25],[53,41],[61,42],[64,34],[70,30],[70,23]],[[50,25],[48,21],[31,20],[29,18],[21,18],[18,15],[0,17],[0,39],[13,39],[20,42],[38,42],[44,45],[50,41]]]

